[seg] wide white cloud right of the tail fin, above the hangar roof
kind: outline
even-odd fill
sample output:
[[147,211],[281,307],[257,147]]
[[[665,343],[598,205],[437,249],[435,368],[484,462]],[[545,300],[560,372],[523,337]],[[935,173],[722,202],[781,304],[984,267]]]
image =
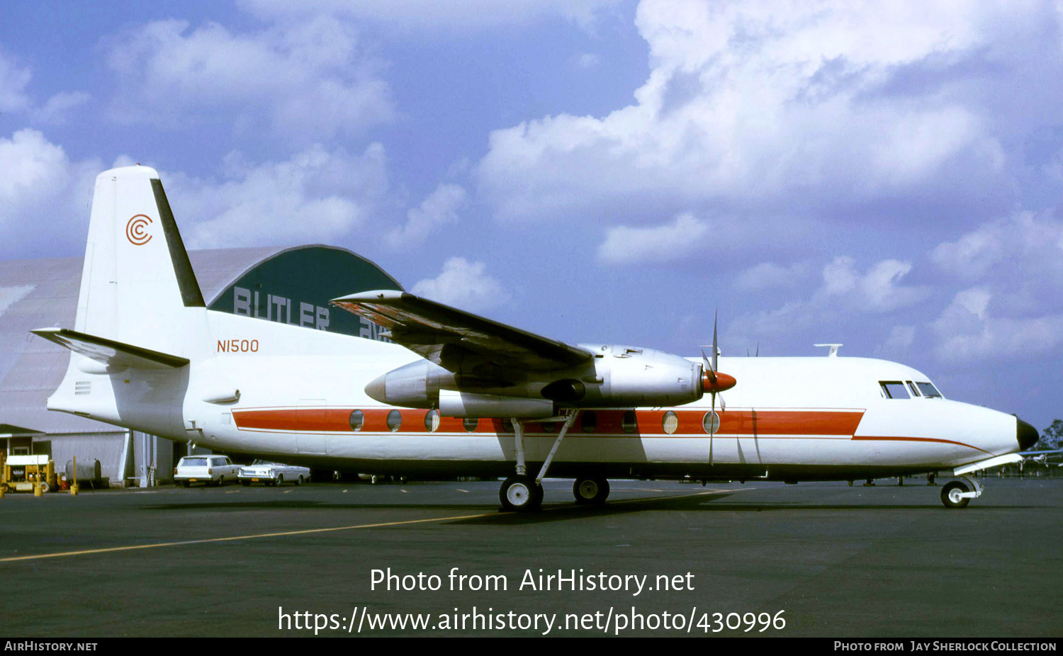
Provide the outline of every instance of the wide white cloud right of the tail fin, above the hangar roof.
[[284,162],[251,164],[237,154],[221,180],[164,174],[174,214],[192,248],[333,242],[360,228],[387,191],[384,147],[360,155],[321,146]]

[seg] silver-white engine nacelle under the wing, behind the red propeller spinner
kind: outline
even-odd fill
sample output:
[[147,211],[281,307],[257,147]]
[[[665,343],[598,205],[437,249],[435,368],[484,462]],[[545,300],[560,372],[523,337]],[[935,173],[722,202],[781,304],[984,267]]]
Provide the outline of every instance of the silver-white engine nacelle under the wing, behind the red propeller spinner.
[[[482,371],[454,373],[418,360],[374,380],[366,393],[389,405],[439,408],[449,417],[546,417],[559,407],[673,406],[702,398],[698,363],[651,349],[580,346],[593,357],[578,367],[550,372],[495,371],[485,377]],[[511,405],[516,400],[535,403]],[[546,406],[550,414],[543,414]]]

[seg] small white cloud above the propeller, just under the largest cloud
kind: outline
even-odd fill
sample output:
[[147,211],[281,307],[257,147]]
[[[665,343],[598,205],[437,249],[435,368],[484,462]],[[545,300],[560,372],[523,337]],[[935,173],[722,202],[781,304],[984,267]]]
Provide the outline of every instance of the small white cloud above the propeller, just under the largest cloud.
[[669,263],[698,252],[709,224],[689,214],[654,228],[618,225],[606,231],[598,246],[598,262],[605,264]]

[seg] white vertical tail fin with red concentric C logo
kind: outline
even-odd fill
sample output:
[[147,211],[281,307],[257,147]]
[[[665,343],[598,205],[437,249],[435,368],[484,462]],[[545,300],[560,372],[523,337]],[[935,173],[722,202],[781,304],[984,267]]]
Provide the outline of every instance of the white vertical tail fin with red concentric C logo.
[[204,307],[158,173],[111,169],[96,178],[74,330],[180,352],[183,309]]

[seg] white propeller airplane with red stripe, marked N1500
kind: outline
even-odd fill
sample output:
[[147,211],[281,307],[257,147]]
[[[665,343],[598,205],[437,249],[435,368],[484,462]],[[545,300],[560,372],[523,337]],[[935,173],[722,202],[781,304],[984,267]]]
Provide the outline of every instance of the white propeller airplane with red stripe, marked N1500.
[[74,326],[33,331],[72,351],[48,407],[328,469],[509,474],[510,510],[537,509],[547,473],[575,478],[577,502],[601,503],[609,478],[944,469],[960,480],[942,501],[963,507],[982,491],[973,472],[1018,461],[1037,440],[1012,415],[945,400],[915,369],[837,348],[718,359],[713,343],[710,361],[568,344],[400,291],[334,303],[395,343],[206,309],[158,173],[105,171]]

